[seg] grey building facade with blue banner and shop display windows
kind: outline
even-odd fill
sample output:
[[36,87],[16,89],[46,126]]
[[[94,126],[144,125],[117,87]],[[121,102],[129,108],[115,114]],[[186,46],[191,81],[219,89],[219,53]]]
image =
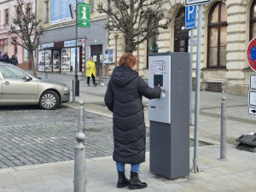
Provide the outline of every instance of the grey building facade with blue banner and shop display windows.
[[[38,71],[73,73],[75,71],[75,20],[71,18],[69,3],[75,0],[38,0],[38,19],[44,22],[44,35],[38,47]],[[103,50],[107,49],[106,16],[96,12],[96,1],[90,3],[90,28],[78,27],[78,72],[92,56],[97,75],[102,73]]]

